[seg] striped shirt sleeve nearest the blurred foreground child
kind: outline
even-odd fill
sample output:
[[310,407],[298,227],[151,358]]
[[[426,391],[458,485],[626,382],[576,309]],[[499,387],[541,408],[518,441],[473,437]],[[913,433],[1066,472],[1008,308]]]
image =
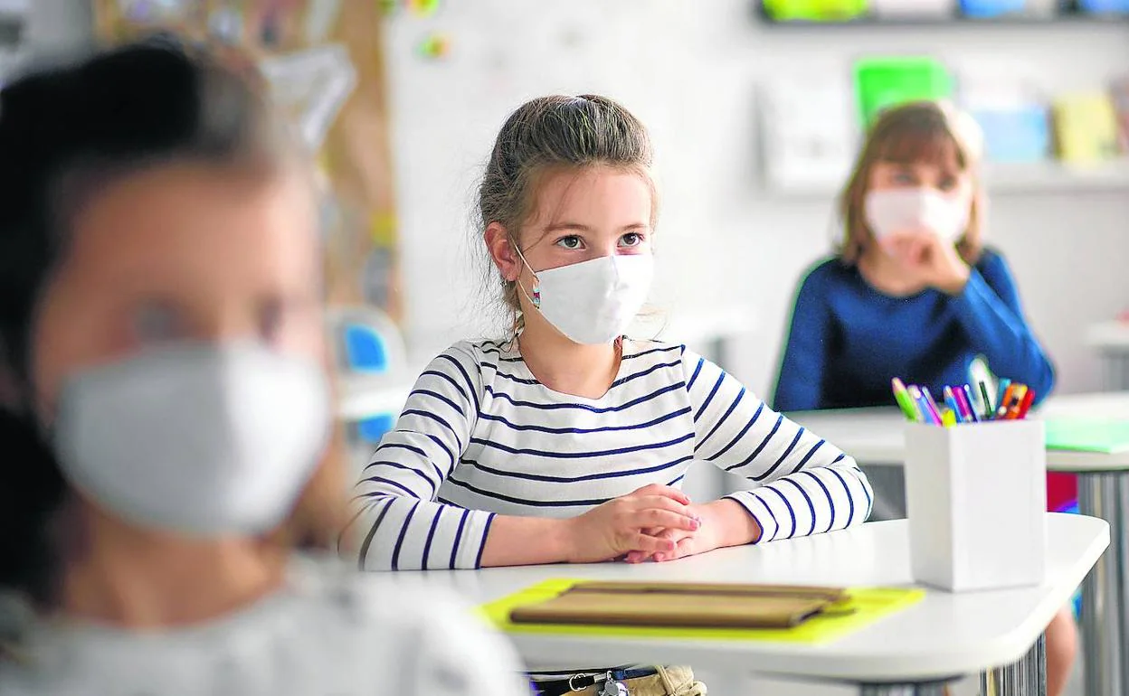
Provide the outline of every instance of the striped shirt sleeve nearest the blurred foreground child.
[[361,473],[345,528],[361,570],[474,569],[493,514],[438,502],[482,398],[470,344],[431,361]]

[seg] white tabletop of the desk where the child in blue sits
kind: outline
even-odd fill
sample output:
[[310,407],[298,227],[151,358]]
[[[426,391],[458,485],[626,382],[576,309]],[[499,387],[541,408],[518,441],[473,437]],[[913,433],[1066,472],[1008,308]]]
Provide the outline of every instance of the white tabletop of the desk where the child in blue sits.
[[[905,461],[905,419],[894,407],[807,411],[788,416],[861,464],[901,466]],[[1129,391],[1052,396],[1033,417],[1129,420]],[[1054,472],[1123,470],[1129,469],[1129,452],[1048,450],[1047,468]]]

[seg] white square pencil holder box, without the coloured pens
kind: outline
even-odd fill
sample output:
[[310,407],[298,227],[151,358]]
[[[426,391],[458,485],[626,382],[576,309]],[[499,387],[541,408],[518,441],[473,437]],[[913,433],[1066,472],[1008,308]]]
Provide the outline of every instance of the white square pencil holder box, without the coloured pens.
[[908,423],[905,446],[913,579],[952,592],[1041,584],[1047,563],[1043,424]]

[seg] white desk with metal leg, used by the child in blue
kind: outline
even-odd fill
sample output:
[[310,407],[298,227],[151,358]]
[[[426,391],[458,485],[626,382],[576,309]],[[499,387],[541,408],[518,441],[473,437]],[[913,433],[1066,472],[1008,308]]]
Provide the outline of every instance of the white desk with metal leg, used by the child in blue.
[[[904,417],[896,408],[813,411],[789,414],[859,462],[902,466]],[[1129,391],[1051,397],[1036,417],[1129,419]],[[1129,694],[1129,452],[1101,455],[1049,450],[1047,468],[1078,474],[1078,508],[1109,521],[1110,552],[1083,584],[1086,694]]]

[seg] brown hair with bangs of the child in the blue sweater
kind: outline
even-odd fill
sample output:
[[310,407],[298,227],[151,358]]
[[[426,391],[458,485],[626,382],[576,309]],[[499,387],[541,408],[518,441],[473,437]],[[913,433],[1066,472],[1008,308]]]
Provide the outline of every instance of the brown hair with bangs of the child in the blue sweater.
[[983,250],[984,194],[980,179],[981,135],[971,116],[940,102],[913,102],[884,111],[870,127],[854,171],[839,197],[843,239],[839,257],[857,263],[874,241],[866,224],[865,199],[877,162],[936,162],[952,149],[961,170],[972,179],[969,226],[956,243],[957,253],[972,265]]

